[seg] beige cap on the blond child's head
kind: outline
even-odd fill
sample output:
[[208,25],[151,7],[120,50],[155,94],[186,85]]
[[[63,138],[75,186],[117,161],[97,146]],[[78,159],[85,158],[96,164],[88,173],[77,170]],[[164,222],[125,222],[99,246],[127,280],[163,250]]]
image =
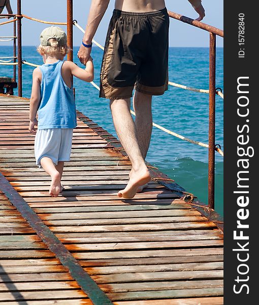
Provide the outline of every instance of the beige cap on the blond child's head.
[[50,26],[44,28],[40,35],[42,46],[50,46],[49,39],[55,38],[57,46],[64,46],[67,44],[67,35],[59,26]]

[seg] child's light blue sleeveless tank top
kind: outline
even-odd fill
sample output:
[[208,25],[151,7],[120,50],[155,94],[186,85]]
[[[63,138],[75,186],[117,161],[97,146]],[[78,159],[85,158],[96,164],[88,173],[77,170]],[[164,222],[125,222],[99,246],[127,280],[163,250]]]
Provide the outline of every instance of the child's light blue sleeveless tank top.
[[69,88],[61,75],[63,60],[40,66],[42,73],[38,129],[75,128],[76,104],[73,86]]

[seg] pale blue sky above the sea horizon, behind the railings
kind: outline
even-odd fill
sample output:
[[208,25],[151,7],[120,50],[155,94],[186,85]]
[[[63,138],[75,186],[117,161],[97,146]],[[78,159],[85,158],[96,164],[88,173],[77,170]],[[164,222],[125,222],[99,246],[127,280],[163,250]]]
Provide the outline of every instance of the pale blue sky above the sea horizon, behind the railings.
[[[16,12],[16,0],[10,0],[13,11]],[[90,7],[90,0],[74,0],[74,19],[84,28]],[[115,0],[110,1],[109,8],[95,35],[95,40],[104,44],[107,27],[114,7]],[[192,9],[187,0],[166,0],[168,10],[197,18],[197,13]],[[203,0],[206,11],[205,23],[223,29],[223,0]],[[6,12],[6,10],[5,10]],[[66,22],[67,1],[66,0],[22,0],[22,13],[47,21]],[[2,19],[3,20],[3,19]],[[39,44],[39,34],[47,25],[22,19],[22,44],[36,46]],[[64,27],[66,29],[66,27]],[[12,35],[12,25],[0,27],[0,36]],[[82,41],[82,32],[74,27],[74,45],[78,46]],[[10,43],[1,43],[10,45]],[[208,47],[209,34],[202,29],[195,28],[178,20],[171,18],[170,23],[170,46],[171,47]],[[223,46],[223,39],[217,39],[217,46]]]

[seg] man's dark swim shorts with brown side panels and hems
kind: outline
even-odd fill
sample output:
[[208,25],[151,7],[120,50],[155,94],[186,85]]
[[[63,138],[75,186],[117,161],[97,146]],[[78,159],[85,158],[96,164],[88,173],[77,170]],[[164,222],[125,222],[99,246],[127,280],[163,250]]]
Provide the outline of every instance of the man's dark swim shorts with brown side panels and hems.
[[126,99],[135,89],[163,95],[168,89],[167,9],[150,13],[114,10],[105,43],[100,97]]

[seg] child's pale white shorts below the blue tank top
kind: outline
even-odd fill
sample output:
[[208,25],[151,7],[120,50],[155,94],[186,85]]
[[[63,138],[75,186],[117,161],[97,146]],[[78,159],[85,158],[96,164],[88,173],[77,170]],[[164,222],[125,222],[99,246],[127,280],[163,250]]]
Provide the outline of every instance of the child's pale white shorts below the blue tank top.
[[72,147],[73,128],[51,128],[38,130],[35,137],[34,153],[36,164],[41,166],[43,157],[50,158],[55,165],[58,161],[69,161]]

